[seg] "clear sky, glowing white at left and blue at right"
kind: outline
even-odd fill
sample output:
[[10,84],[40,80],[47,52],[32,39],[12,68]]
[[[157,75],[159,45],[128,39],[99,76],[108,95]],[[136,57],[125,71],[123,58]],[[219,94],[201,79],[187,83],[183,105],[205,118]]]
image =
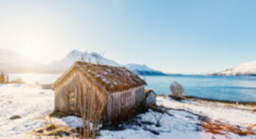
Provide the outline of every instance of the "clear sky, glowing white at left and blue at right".
[[256,1],[0,1],[0,47],[44,63],[70,50],[217,72],[256,60]]

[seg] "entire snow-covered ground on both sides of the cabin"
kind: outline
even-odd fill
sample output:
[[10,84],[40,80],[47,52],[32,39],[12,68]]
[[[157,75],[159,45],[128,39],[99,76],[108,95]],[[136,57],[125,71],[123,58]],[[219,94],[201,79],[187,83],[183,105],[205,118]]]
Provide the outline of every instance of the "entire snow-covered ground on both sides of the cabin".
[[[53,112],[53,101],[54,92],[50,89],[29,84],[0,85],[0,138],[35,138],[31,131],[50,122],[47,114]],[[119,129],[103,128],[100,138],[256,138],[228,131],[215,134],[202,126],[207,118],[207,121],[220,121],[239,129],[250,127],[255,132],[256,113],[252,110],[255,106],[239,105],[234,108],[222,104],[174,101],[164,97],[158,97],[157,104],[166,109],[161,126],[156,126],[149,110],[132,118],[132,122],[121,123]],[[21,118],[10,120],[13,115]],[[75,116],[53,118],[52,122],[72,128],[82,125],[81,118]]]

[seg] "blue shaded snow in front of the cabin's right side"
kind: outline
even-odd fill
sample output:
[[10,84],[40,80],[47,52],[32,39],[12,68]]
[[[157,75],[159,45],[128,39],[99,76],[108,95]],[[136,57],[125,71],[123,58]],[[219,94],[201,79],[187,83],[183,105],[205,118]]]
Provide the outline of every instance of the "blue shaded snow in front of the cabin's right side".
[[127,129],[121,131],[103,130],[100,138],[201,138],[198,116],[175,110],[168,113],[174,116],[164,115],[159,127],[155,126],[152,113],[146,112],[138,115],[137,121],[142,125],[124,125]]

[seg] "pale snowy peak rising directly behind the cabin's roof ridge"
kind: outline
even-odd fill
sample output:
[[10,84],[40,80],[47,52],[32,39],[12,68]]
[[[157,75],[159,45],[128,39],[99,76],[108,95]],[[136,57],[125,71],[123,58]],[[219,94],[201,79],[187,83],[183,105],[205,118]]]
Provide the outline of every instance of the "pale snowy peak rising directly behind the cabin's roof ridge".
[[49,67],[50,70],[56,73],[64,72],[64,70],[71,67],[75,61],[81,61],[82,59],[83,61],[90,61],[92,62],[92,64],[98,63],[110,66],[121,66],[121,64],[118,64],[117,62],[112,61],[110,59],[104,58],[96,52],[87,53],[78,50],[73,50],[60,61],[53,61],[50,64],[48,64],[47,67]]

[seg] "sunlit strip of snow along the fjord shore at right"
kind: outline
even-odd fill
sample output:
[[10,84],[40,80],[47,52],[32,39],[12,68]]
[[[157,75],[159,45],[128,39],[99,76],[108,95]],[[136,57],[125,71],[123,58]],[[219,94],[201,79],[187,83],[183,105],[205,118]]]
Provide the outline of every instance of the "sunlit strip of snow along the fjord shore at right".
[[[174,101],[172,99],[158,97],[159,106],[167,106],[173,109],[184,109],[198,115],[204,115],[216,121],[223,121],[224,123],[231,123],[238,126],[253,126],[256,125],[256,106],[230,106],[222,103],[201,104],[195,101]],[[256,126],[255,126],[256,129]]]

